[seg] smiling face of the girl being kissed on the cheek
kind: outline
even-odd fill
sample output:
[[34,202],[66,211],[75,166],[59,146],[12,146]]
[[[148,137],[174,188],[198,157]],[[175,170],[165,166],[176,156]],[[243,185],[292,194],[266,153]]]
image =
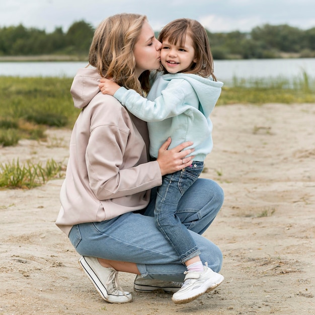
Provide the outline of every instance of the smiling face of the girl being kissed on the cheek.
[[190,68],[193,62],[196,62],[195,49],[189,35],[186,35],[183,47],[172,45],[167,39],[163,40],[161,63],[169,73],[182,72]]

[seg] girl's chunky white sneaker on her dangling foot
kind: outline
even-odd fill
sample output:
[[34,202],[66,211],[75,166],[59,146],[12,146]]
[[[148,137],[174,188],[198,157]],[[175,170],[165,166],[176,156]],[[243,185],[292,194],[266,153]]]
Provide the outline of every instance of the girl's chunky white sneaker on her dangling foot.
[[224,277],[210,269],[207,263],[203,266],[203,272],[185,271],[184,273],[186,274],[184,284],[172,297],[175,304],[191,302],[213,290],[224,280]]

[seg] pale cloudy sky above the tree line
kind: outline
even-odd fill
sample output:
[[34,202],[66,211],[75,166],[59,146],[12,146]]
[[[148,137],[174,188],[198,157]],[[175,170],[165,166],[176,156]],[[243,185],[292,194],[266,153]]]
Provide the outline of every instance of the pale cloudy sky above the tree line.
[[0,27],[64,32],[77,21],[97,27],[117,13],[147,16],[154,31],[178,18],[199,21],[213,33],[249,32],[264,24],[288,24],[301,30],[315,27],[314,0],[0,0]]

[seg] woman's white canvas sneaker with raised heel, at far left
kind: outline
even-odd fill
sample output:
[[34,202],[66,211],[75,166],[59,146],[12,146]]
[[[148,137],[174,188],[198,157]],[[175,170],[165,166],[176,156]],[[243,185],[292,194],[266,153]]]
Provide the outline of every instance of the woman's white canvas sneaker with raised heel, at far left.
[[103,267],[96,257],[82,256],[79,264],[105,301],[109,303],[131,301],[131,293],[123,291],[118,282],[117,270]]

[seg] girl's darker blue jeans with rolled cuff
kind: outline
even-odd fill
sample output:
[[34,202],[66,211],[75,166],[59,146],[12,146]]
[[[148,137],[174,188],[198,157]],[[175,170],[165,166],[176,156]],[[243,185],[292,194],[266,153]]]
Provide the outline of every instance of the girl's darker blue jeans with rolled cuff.
[[[193,161],[190,167],[163,176],[162,186],[157,187],[155,224],[174,247],[182,263],[200,255],[201,252],[187,227],[176,214],[177,205],[202,170],[203,162]],[[196,195],[195,198],[198,197]]]

